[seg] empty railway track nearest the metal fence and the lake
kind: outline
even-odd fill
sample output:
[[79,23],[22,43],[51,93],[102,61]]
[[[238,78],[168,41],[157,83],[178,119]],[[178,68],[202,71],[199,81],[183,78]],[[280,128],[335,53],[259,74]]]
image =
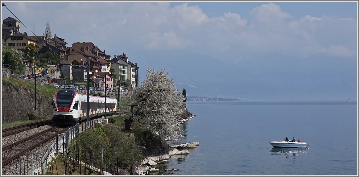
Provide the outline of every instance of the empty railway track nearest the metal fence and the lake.
[[69,127],[52,127],[51,129],[39,132],[36,135],[17,141],[2,148],[3,166],[24,153],[36,148],[46,141],[54,138],[57,134],[65,132]]

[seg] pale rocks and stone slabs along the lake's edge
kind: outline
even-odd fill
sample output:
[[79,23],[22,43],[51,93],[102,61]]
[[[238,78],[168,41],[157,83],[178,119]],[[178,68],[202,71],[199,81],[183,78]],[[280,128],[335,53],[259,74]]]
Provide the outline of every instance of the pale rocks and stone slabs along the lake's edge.
[[[187,113],[185,115],[182,115],[175,121],[176,125],[179,126],[194,117],[196,117],[196,115],[194,115],[193,113]],[[177,146],[180,146],[180,148],[177,148]],[[140,163],[139,167],[136,167],[135,174],[144,175],[147,172],[159,171],[159,169],[155,168],[158,163],[169,162],[168,159],[171,157],[171,155],[188,154],[189,152],[186,148],[196,148],[196,146],[199,146],[198,141],[194,143],[169,146],[168,154],[146,157],[145,160]],[[178,169],[174,169],[174,171],[177,170]]]

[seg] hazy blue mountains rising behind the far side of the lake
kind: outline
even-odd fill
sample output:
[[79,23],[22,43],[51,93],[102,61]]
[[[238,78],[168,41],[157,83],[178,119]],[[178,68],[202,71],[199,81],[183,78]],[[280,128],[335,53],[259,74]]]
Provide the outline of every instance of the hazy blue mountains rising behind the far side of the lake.
[[[273,56],[273,55],[271,55]],[[135,54],[140,81],[147,68],[165,69],[188,96],[240,100],[346,100],[356,98],[356,59],[262,56],[236,63],[186,51]]]

